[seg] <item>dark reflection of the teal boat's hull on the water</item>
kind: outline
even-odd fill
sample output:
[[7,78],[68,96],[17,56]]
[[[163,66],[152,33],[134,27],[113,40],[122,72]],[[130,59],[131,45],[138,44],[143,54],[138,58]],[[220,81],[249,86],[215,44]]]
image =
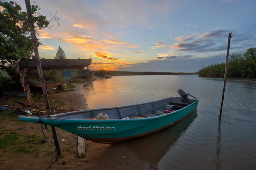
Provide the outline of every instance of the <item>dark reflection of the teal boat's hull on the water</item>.
[[[188,126],[197,117],[197,112],[193,112],[180,122],[167,127],[161,131],[124,141],[125,145],[135,149],[134,154],[140,160],[150,163],[151,168],[157,167],[159,160],[166,154],[170,147],[186,131]],[[113,143],[111,147],[116,147],[120,143]]]

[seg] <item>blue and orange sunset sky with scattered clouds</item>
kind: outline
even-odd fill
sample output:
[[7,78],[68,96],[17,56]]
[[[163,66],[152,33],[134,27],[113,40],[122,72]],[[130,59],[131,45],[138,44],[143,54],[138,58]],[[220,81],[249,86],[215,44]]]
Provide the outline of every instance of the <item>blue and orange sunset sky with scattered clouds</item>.
[[[26,10],[25,1],[14,1]],[[195,72],[256,47],[255,0],[34,0],[60,18],[40,31],[41,58],[58,46],[67,59],[92,58],[91,69]]]

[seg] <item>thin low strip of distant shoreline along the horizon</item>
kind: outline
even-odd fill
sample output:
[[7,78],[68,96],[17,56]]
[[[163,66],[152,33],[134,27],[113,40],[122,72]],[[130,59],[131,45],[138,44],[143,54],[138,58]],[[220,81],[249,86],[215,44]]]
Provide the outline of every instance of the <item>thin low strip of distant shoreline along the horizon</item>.
[[198,72],[108,71],[111,76],[197,75]]

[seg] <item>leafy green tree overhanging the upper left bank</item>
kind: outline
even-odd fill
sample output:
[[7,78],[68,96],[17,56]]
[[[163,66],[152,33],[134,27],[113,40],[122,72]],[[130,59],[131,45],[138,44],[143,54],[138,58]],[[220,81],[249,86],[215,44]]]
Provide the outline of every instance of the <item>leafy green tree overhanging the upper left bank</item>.
[[[32,5],[35,31],[51,28],[51,21],[58,23],[59,18],[53,16],[50,20],[38,13],[39,7]],[[4,2],[0,0],[0,69],[10,71],[12,64],[21,58],[33,57],[33,45],[28,24],[28,15],[15,2]],[[37,40],[37,45],[41,45]]]

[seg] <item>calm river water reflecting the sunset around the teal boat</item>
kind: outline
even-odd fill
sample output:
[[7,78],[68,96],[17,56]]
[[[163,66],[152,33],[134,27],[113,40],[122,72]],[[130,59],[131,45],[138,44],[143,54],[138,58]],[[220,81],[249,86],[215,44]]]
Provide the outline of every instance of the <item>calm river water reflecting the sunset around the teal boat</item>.
[[[179,96],[198,98],[197,112],[135,140],[139,158],[157,169],[256,169],[256,80],[189,76],[120,76],[84,87],[89,108],[139,104]],[[137,143],[136,143],[137,142]]]

